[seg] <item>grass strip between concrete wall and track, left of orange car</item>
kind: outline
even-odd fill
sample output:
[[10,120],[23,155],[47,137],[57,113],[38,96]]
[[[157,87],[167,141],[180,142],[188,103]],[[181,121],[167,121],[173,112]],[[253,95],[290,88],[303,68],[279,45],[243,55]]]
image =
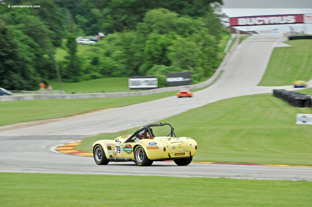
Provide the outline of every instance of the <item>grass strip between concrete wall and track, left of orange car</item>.
[[[192,91],[195,92],[198,90],[201,89],[193,89]],[[43,99],[0,102],[0,108],[2,109],[0,126],[34,120],[67,117],[100,109],[116,108],[146,101],[153,101],[175,95],[176,91],[157,93],[148,96],[120,98]]]

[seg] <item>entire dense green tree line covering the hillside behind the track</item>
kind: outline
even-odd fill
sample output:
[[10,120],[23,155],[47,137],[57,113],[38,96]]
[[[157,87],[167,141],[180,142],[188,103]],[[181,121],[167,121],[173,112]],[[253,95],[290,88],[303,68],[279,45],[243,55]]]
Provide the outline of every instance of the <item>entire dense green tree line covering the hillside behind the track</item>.
[[[222,0],[30,0],[0,5],[0,87],[34,90],[55,80],[56,49],[63,82],[190,71],[193,83],[209,78],[222,60],[229,33],[210,3]],[[8,8],[7,5],[40,5]],[[77,36],[105,33],[77,54]]]

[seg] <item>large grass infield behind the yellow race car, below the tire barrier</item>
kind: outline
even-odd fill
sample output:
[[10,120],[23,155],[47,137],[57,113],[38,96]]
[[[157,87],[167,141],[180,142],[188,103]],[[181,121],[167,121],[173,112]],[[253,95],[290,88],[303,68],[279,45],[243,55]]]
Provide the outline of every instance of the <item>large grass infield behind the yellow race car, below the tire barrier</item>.
[[[311,114],[312,109],[260,94],[217,101],[159,122],[172,124],[178,137],[197,141],[193,161],[312,166],[312,127],[296,125],[297,113]],[[96,140],[136,129],[86,138],[76,149],[92,153]]]

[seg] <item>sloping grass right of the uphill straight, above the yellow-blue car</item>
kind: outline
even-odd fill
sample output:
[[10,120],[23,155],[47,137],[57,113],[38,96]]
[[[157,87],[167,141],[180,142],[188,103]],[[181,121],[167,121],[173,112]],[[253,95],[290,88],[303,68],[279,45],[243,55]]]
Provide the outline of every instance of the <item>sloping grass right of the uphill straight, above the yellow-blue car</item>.
[[287,86],[312,78],[312,40],[289,40],[292,47],[274,48],[259,86]]

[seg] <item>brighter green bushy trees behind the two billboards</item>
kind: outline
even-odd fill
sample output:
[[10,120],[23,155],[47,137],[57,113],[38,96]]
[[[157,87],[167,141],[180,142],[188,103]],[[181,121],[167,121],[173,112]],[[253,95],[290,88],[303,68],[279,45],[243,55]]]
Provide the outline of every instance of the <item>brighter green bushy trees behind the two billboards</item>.
[[194,83],[202,81],[220,63],[218,40],[222,33],[228,35],[221,27],[212,29],[207,23],[210,21],[207,16],[180,16],[163,8],[149,10],[136,30],[115,32],[97,43],[95,49],[90,47],[86,55],[97,57],[101,70],[94,70],[92,61],[84,67],[89,68],[88,73],[103,77],[148,74],[164,78],[166,73],[191,71]]

